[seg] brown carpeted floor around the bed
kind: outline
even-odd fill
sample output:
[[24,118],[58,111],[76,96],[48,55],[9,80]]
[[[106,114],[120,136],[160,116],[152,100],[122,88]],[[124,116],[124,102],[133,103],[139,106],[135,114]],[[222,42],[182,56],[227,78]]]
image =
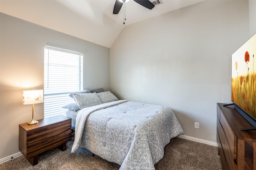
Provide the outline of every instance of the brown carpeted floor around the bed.
[[[0,164],[0,170],[118,170],[118,164],[108,162],[84,148],[71,153],[74,138],[67,150],[58,148],[38,155],[32,166],[24,156]],[[173,138],[164,149],[164,158],[155,164],[156,170],[221,170],[218,148],[182,138]]]

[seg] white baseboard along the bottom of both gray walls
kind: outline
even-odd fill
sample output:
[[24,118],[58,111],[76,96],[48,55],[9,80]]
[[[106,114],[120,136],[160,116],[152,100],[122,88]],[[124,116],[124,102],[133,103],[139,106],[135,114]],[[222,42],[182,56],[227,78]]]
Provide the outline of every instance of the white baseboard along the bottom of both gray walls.
[[[211,141],[204,140],[204,139],[194,138],[194,137],[186,136],[184,134],[181,134],[179,136],[179,138],[183,138],[183,139],[187,139],[187,140],[192,140],[192,141],[200,142],[200,143],[204,143],[204,144],[209,144],[209,145],[212,145],[212,146],[218,146],[218,144],[216,142],[211,142]],[[12,160],[12,158],[18,158],[19,156],[22,156],[21,152],[18,152],[16,154],[7,156],[5,158],[2,158],[2,159],[0,159],[0,164],[2,164],[4,162],[7,162],[9,160]]]

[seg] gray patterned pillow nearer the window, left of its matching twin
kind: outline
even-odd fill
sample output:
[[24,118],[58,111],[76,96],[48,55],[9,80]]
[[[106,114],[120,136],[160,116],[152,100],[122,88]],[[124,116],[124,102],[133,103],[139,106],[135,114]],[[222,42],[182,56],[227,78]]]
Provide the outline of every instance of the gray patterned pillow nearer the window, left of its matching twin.
[[102,104],[96,93],[74,93],[73,96],[79,109]]

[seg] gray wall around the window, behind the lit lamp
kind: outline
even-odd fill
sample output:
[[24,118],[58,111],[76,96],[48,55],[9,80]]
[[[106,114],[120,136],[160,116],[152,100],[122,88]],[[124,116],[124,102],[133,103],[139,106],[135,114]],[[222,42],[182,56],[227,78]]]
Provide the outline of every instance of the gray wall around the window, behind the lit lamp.
[[[44,87],[44,45],[84,53],[84,89],[110,89],[110,49],[2,13],[0,23],[1,159],[19,152],[18,125],[32,119],[22,90]],[[34,116],[44,118],[43,103],[35,105]]]

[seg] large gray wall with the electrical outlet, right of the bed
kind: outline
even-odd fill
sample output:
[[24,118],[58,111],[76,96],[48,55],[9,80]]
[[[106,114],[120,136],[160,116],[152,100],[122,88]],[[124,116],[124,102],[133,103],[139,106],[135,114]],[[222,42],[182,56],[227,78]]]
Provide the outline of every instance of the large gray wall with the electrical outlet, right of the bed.
[[110,48],[111,91],[170,107],[184,135],[216,142],[216,103],[231,103],[231,55],[250,38],[248,10],[248,1],[204,1],[126,26]]

